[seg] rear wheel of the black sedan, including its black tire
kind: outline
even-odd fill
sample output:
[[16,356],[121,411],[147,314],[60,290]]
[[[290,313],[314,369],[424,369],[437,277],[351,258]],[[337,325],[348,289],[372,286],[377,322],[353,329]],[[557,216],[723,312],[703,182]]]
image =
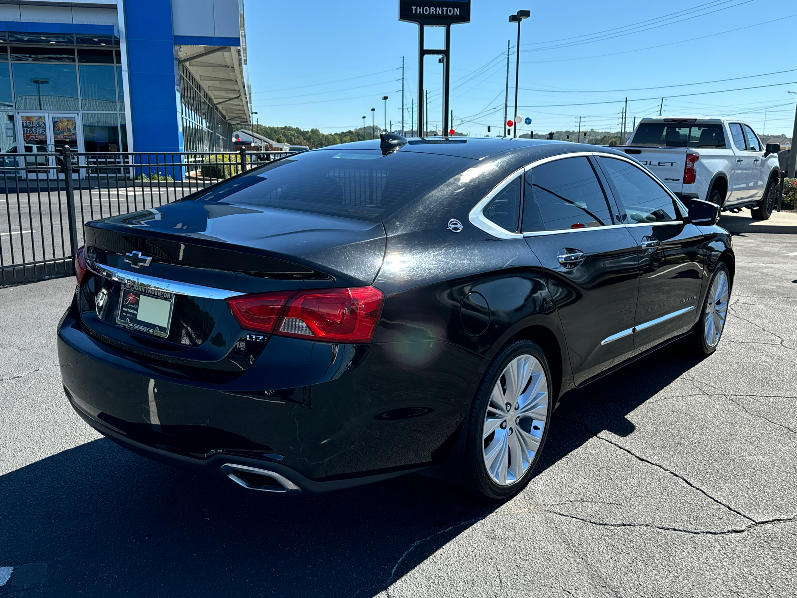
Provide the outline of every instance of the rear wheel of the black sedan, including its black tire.
[[530,340],[502,349],[473,399],[463,490],[492,500],[523,490],[540,460],[553,403],[551,369],[542,349]]

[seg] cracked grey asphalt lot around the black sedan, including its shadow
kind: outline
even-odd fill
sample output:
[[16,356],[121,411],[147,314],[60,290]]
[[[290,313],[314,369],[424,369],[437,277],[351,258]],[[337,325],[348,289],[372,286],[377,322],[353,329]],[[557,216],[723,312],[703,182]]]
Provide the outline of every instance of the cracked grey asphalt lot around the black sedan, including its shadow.
[[61,389],[73,280],[0,289],[0,596],[797,595],[797,214],[720,224],[717,352],[568,393],[501,505],[419,476],[275,496],[129,453]]

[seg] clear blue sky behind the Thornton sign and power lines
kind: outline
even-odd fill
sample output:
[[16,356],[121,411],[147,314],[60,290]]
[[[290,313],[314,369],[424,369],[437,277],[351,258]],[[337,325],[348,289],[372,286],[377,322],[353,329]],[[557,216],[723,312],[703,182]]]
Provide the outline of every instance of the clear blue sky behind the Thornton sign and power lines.
[[[493,134],[501,130],[508,40],[511,115],[516,26],[508,15],[521,9],[532,13],[520,33],[518,112],[533,119],[524,131],[575,129],[579,116],[583,128],[617,131],[626,96],[630,128],[634,116],[658,115],[664,96],[665,115],[739,116],[757,132],[791,135],[794,0],[473,0],[471,22],[451,33],[450,107],[457,131],[481,136],[488,124]],[[405,57],[410,128],[418,26],[398,21],[398,0],[245,0],[245,19],[249,82],[261,124],[336,132],[362,126],[363,115],[371,124],[376,108],[381,125],[381,97],[387,95],[387,120],[398,129]],[[441,73],[436,58],[427,57],[430,127],[440,127],[442,118]],[[717,81],[723,79],[733,81]],[[720,92],[754,86],[760,87]],[[695,93],[702,95],[683,96]]]

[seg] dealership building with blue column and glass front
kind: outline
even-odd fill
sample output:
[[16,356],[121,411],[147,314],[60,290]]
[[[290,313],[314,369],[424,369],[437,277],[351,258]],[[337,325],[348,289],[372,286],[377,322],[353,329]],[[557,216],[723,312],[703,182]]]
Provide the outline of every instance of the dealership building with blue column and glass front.
[[3,0],[3,152],[227,151],[251,122],[243,0]]

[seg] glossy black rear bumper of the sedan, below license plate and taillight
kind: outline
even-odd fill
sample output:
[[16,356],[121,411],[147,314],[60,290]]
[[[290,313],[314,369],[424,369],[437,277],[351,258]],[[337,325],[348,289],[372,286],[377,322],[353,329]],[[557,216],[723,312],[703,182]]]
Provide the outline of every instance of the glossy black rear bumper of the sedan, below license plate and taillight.
[[441,344],[424,367],[401,368],[391,344],[341,344],[332,359],[330,346],[273,337],[236,380],[213,384],[170,376],[167,363],[89,336],[74,303],[57,340],[76,411],[159,462],[214,474],[226,464],[256,467],[315,492],[446,460],[475,391],[463,362],[473,372],[475,356]]

